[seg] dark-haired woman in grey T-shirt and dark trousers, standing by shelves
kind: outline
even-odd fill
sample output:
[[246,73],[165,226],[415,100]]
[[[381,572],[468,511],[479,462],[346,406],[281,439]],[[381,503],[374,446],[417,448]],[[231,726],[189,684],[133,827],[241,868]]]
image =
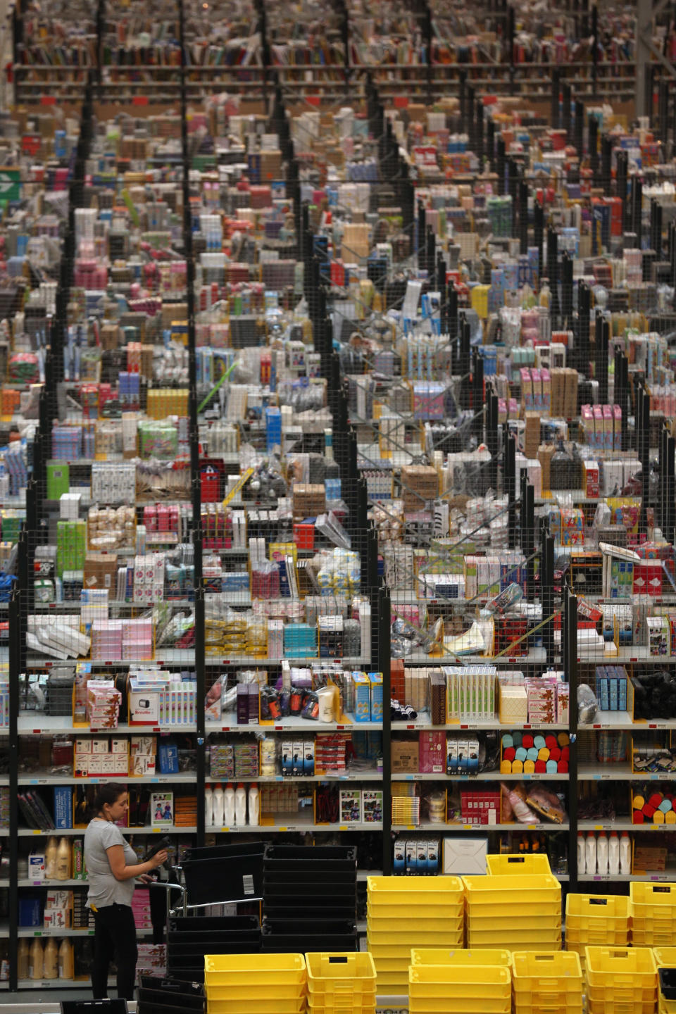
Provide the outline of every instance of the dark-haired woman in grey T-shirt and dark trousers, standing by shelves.
[[84,832],[84,861],[89,893],[87,904],[94,914],[94,966],[91,985],[94,1000],[107,997],[108,964],[115,954],[118,965],[118,996],[134,999],[136,980],[136,926],[132,913],[134,881],[150,880],[151,870],[166,860],[165,851],[139,863],[116,821],[129,807],[127,789],[119,782],[98,786],[93,810],[96,814]]

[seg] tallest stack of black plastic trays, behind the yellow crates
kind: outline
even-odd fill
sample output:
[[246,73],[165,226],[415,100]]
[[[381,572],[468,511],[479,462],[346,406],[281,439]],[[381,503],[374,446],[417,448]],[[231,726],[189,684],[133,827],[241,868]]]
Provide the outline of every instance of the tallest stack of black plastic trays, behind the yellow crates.
[[262,915],[264,951],[357,950],[357,849],[266,846]]

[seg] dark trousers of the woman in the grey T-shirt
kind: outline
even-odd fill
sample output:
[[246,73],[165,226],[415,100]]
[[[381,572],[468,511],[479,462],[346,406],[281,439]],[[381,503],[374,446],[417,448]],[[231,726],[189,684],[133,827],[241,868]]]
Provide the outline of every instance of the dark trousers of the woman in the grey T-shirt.
[[128,904],[106,904],[94,913],[94,966],[91,986],[94,1000],[107,998],[108,965],[115,954],[118,966],[118,996],[134,999],[136,926]]

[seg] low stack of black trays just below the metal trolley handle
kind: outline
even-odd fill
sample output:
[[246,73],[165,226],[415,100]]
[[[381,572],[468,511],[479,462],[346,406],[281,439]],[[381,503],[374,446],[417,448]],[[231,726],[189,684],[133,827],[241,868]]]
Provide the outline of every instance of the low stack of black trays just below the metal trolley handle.
[[172,979],[204,983],[205,954],[257,954],[260,924],[255,916],[169,916],[166,969]]

